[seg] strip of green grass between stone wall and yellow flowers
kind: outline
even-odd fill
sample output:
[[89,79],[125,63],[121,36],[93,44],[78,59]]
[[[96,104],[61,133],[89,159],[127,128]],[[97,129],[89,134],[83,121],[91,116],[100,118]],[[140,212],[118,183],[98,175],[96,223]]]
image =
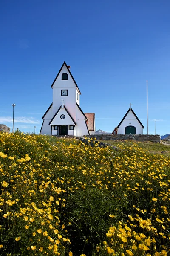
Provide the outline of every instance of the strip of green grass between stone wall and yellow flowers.
[[[102,142],[114,145],[116,147],[119,147],[119,145],[127,145],[127,146],[132,145],[131,141],[102,140]],[[167,151],[167,153],[165,152],[164,154],[166,156],[170,156],[170,146],[163,145],[161,143],[151,142],[151,141],[147,141],[147,142],[135,141],[135,143],[138,144],[139,148],[142,148],[144,151],[149,151],[151,154],[161,154],[162,151]]]

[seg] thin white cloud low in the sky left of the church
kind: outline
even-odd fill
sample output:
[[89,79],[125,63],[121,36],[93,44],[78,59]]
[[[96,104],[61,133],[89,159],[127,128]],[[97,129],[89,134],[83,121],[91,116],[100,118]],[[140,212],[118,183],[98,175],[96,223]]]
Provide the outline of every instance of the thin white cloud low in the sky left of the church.
[[[13,122],[13,118],[11,116],[0,116],[0,123],[4,122]],[[34,117],[16,117],[14,118],[14,122],[16,123],[27,123],[27,124],[40,124],[41,122]]]

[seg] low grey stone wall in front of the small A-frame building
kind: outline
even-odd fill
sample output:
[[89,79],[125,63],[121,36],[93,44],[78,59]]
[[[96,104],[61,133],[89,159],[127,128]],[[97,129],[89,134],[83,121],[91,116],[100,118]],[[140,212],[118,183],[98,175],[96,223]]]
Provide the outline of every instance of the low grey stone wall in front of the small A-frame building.
[[88,138],[95,138],[96,140],[137,140],[137,141],[153,141],[160,142],[159,135],[147,135],[147,134],[95,134],[85,135]]

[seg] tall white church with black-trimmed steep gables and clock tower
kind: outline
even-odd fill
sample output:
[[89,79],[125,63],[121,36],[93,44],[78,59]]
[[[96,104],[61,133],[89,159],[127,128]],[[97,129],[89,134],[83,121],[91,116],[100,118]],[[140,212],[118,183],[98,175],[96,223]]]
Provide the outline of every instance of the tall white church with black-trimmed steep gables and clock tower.
[[64,62],[51,85],[53,102],[42,116],[40,134],[83,136],[94,134],[95,113],[80,108],[81,92],[70,66]]

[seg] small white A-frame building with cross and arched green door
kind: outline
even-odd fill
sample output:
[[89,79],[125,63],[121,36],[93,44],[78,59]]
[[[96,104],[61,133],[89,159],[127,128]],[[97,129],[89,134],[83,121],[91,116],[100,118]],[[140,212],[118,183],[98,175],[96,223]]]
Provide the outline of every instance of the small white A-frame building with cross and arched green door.
[[[130,104],[131,105],[131,104]],[[143,134],[144,126],[130,107],[112,134]]]

